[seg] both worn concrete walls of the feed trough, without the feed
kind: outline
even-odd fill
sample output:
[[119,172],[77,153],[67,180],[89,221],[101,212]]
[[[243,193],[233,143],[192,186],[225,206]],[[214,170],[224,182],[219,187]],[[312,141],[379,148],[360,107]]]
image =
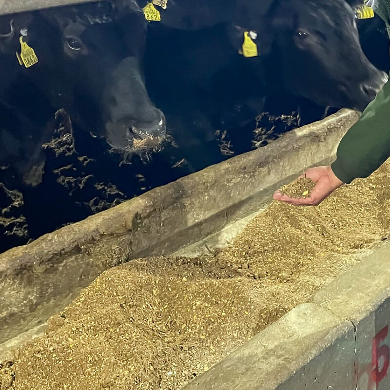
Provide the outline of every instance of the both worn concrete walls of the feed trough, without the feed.
[[[242,225],[270,202],[276,188],[309,166],[329,163],[357,118],[356,112],[341,110],[264,148],[1,254],[0,352],[4,356],[41,331],[51,314],[112,266],[220,244],[225,232],[234,230],[229,226]],[[359,389],[385,389],[389,251],[385,246],[372,254],[188,388],[336,389],[337,384],[347,390],[359,383]]]

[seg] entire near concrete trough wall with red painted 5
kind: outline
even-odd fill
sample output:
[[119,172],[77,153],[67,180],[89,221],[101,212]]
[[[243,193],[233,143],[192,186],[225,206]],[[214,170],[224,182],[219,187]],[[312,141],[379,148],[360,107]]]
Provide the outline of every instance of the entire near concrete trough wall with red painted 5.
[[387,390],[390,244],[183,390]]

